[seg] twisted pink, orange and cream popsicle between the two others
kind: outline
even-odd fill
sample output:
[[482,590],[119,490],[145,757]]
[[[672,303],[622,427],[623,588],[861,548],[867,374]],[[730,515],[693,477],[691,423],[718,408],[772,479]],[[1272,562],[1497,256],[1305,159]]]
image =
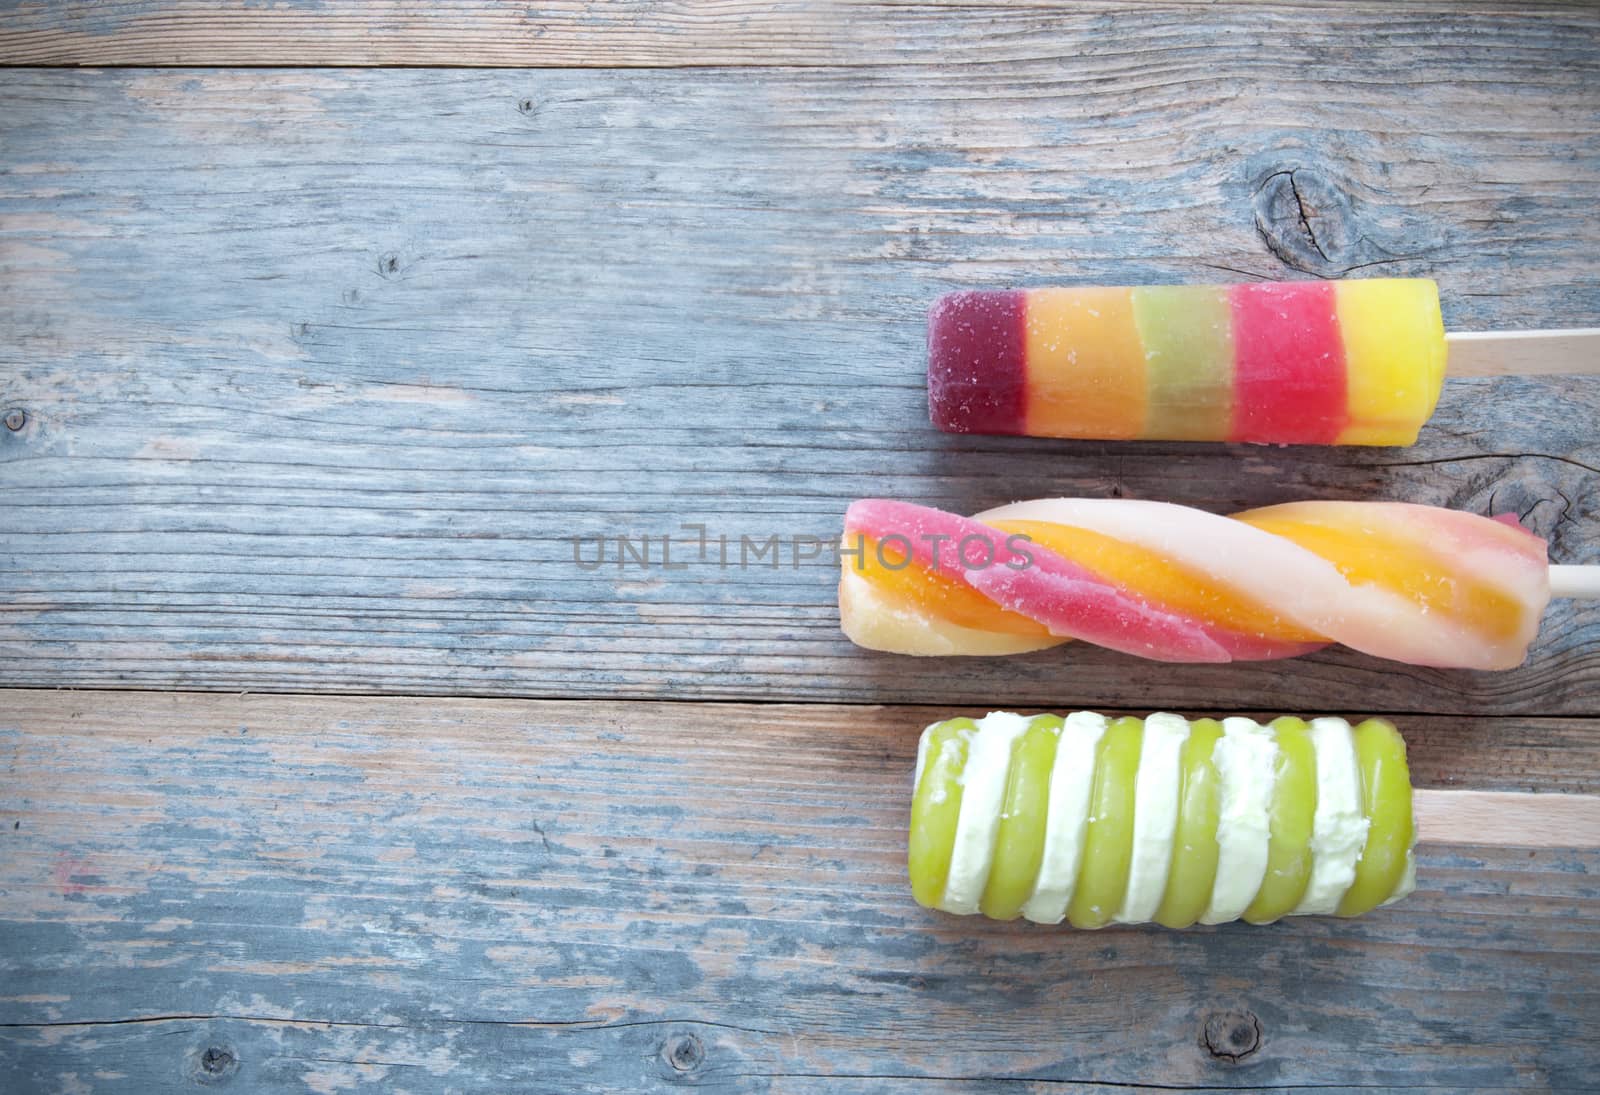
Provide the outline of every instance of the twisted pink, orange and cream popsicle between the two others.
[[840,618],[862,647],[1003,655],[1083,639],[1157,661],[1288,658],[1339,642],[1419,666],[1520,664],[1550,599],[1512,517],[1306,501],[1232,517],[1050,498],[960,517],[845,514]]

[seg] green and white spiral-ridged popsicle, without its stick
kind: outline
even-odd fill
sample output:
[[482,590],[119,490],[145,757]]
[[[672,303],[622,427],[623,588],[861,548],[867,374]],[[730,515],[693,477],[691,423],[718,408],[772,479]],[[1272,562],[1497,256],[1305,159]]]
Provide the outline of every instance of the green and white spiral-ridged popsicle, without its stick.
[[1416,885],[1405,741],[1371,719],[1061,719],[923,730],[917,901],[1040,924],[1358,916]]

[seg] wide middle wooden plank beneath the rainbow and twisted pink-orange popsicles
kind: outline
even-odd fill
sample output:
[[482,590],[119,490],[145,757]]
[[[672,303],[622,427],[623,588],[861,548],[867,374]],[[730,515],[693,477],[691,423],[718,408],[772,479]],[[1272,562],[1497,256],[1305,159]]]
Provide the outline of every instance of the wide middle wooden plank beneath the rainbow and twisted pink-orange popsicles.
[[947,437],[922,389],[960,285],[1435,275],[1451,327],[1592,323],[1600,38],[1546,26],[1344,82],[1304,27],[1106,78],[10,70],[0,674],[1594,714],[1597,605],[1501,674],[914,661],[838,634],[818,548],[867,495],[1328,496],[1510,511],[1595,562],[1594,378],[1451,381],[1411,450]]

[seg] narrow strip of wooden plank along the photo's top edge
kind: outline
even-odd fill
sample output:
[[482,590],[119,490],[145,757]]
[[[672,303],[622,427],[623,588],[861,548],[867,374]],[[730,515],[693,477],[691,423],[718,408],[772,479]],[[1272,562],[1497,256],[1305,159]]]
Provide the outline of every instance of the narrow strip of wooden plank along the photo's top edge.
[[[1093,78],[1125,75],[1131,58],[1194,61],[1205,72],[1208,27],[1246,35],[1272,62],[1280,37],[1312,37],[1365,61],[1392,51],[1454,50],[1466,70],[1485,42],[1536,56],[1554,37],[1594,34],[1594,11],[1571,3],[1454,5],[1211,3],[1118,0],[1086,8],[1022,3],[818,3],[715,0],[58,0],[0,11],[0,64],[86,66],[464,66],[672,67],[973,64],[1070,59]],[[1373,30],[1379,30],[1373,35]],[[1187,54],[1187,56],[1186,56]],[[1312,54],[1315,56],[1315,54]],[[1342,75],[1342,74],[1341,74]]]

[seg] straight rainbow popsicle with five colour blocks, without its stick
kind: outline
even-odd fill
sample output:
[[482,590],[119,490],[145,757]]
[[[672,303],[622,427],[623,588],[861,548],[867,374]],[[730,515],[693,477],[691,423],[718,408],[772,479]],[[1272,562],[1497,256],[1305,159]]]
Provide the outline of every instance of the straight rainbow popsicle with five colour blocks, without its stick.
[[1410,445],[1443,378],[1421,279],[963,291],[928,314],[954,434]]

